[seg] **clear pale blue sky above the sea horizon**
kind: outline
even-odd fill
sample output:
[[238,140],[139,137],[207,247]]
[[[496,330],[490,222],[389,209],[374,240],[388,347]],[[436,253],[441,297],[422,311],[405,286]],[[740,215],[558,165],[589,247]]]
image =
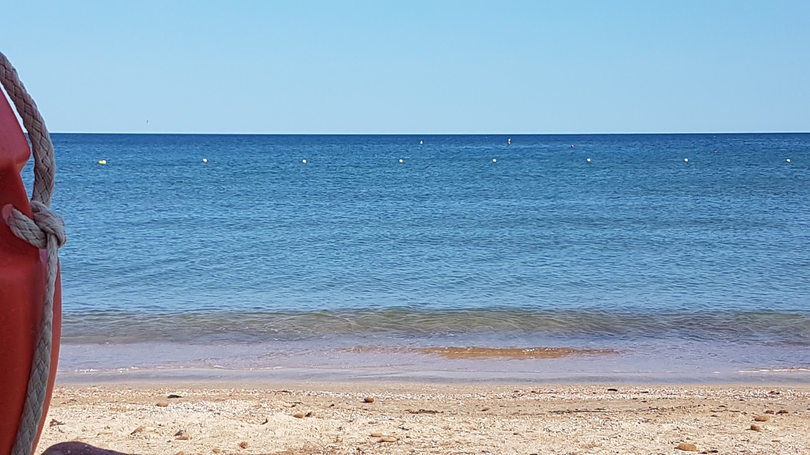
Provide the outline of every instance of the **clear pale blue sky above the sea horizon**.
[[52,132],[810,131],[810,2],[7,2]]

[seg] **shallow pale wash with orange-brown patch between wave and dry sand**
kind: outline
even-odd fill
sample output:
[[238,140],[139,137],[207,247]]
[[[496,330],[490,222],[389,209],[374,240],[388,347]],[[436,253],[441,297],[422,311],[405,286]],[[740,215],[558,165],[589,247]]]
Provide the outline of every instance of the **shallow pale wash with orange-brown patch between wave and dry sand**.
[[[356,340],[352,340],[356,341]],[[808,347],[659,342],[635,347],[410,346],[322,340],[63,345],[58,382],[403,381],[484,384],[810,384]],[[422,346],[425,344],[426,346]],[[528,344],[528,343],[527,343]],[[549,343],[551,344],[551,343]],[[524,345],[526,346],[526,345]],[[529,345],[532,346],[532,345]],[[547,345],[548,346],[548,345]]]

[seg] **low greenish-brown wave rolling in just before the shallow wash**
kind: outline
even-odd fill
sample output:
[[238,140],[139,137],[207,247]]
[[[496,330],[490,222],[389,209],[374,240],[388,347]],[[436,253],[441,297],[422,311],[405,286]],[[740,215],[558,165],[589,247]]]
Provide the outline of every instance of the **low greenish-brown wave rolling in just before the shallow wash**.
[[312,312],[66,313],[66,343],[257,342],[332,336],[431,338],[518,334],[545,338],[673,338],[810,347],[810,313],[609,312],[475,308]]

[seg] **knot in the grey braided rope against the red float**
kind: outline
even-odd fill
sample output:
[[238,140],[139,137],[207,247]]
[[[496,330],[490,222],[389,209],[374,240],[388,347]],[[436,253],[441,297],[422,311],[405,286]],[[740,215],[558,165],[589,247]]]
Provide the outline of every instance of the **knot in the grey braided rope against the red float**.
[[2,219],[15,236],[27,241],[39,249],[48,248],[48,236],[56,239],[57,248],[65,245],[65,220],[55,211],[39,201],[31,202],[33,219],[23,215],[15,206],[6,204],[2,207]]

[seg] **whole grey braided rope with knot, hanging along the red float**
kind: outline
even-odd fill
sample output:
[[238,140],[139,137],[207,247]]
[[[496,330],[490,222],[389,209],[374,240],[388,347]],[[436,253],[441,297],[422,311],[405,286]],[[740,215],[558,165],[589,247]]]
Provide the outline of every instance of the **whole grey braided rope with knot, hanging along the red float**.
[[56,164],[53,160],[53,143],[48,129],[34,100],[20,82],[17,71],[3,53],[0,53],[0,83],[17,108],[19,117],[23,119],[34,155],[34,188],[31,194],[33,219],[28,219],[15,207],[8,205],[2,207],[2,220],[8,224],[15,236],[28,241],[36,248],[48,250],[45,305],[31,364],[31,376],[28,378],[28,393],[25,396],[23,415],[17,429],[17,440],[11,451],[12,455],[30,455],[34,451],[34,441],[39,436],[40,422],[44,417],[42,412],[48,398],[53,341],[53,294],[56,291],[59,247],[64,245],[66,240],[65,222],[49,208],[53,197]]

